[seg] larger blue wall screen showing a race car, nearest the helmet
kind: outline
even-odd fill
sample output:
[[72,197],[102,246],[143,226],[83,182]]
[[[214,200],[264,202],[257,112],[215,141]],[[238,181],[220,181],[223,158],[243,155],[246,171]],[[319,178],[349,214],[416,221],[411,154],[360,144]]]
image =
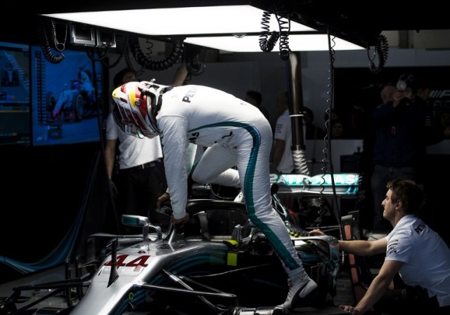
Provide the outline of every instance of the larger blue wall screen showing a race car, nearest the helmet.
[[100,140],[102,67],[86,51],[65,49],[49,62],[31,46],[32,145],[66,145]]

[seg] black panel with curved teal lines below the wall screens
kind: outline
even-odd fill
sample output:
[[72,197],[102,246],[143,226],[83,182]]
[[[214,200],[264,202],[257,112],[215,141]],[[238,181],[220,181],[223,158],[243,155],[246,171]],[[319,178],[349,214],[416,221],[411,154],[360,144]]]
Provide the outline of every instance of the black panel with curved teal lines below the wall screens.
[[100,142],[8,147],[0,154],[0,283],[81,253],[113,232]]

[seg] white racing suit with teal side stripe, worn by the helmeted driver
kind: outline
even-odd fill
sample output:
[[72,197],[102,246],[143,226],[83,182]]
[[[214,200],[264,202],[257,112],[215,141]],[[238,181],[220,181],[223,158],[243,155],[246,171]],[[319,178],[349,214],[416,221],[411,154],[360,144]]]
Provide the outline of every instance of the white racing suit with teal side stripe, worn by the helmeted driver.
[[[191,163],[189,142],[207,147],[195,182],[241,187],[250,220],[269,239],[290,276],[302,262],[281,217],[271,206],[269,155],[272,130],[259,109],[205,86],[178,86],[162,95],[158,116],[174,218],[185,216]],[[237,167],[232,169],[233,166]]]

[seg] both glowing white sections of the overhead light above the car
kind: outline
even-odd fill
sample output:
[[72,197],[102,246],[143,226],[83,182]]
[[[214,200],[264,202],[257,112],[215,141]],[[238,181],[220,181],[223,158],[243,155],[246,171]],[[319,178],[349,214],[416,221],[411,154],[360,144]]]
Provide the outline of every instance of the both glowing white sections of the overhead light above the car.
[[[117,29],[122,32],[148,36],[182,36],[186,38],[186,43],[231,52],[260,51],[258,36],[248,35],[237,38],[232,35],[252,33],[255,35],[262,32],[262,15],[261,9],[248,5],[44,14],[51,18]],[[276,15],[272,14],[269,32],[274,30],[280,29]],[[317,32],[315,29],[291,21],[290,32],[308,32],[308,34],[289,36],[291,51],[328,50],[326,35],[311,35],[311,32]],[[229,36],[223,36],[227,34]],[[336,42],[335,50],[363,49],[342,39]],[[278,45],[274,51],[278,51]]]

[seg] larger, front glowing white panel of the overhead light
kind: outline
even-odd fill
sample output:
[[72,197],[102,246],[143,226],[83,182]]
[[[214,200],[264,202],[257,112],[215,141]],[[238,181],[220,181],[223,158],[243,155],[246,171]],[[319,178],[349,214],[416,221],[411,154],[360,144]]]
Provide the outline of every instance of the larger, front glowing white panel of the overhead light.
[[[261,32],[263,11],[254,6],[199,6],[185,8],[149,8],[140,10],[96,11],[43,14],[110,29],[153,36],[186,34],[236,34]],[[276,18],[270,29],[278,30]],[[315,31],[291,22],[292,32]]]

